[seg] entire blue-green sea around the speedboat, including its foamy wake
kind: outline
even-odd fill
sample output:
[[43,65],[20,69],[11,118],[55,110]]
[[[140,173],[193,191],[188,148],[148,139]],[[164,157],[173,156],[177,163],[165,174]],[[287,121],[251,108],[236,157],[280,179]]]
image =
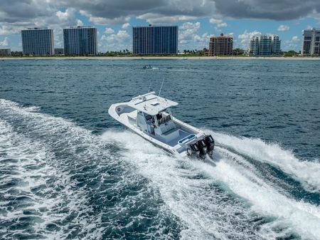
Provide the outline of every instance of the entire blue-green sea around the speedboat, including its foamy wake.
[[[319,240],[319,64],[0,61],[0,239]],[[163,80],[215,165],[107,114]]]

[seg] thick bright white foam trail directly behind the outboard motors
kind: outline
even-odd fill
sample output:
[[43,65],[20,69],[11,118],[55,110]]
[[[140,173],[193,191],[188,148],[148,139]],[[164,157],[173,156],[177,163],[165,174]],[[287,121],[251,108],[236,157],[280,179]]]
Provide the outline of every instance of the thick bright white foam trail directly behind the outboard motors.
[[231,191],[247,199],[252,210],[265,216],[276,216],[277,226],[287,226],[302,239],[320,236],[320,208],[312,204],[290,199],[247,168],[233,164],[240,156],[218,147],[221,159],[215,168],[203,167],[215,179],[223,181]]

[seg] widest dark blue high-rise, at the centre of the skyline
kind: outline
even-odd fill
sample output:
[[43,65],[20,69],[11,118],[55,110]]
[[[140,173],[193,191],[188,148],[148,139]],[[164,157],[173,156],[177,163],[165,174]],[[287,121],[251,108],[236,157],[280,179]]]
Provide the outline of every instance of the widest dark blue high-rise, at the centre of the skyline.
[[137,55],[177,54],[178,26],[134,26],[132,48]]

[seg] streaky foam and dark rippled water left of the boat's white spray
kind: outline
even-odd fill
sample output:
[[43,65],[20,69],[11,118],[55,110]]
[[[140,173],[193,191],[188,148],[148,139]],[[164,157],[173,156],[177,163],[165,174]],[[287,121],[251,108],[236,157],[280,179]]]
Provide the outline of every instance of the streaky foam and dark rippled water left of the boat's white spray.
[[[110,150],[118,152],[117,147],[73,122],[8,100],[0,100],[0,113],[1,137],[7,142],[0,170],[16,184],[0,189],[11,192],[1,199],[5,239],[152,238],[164,232],[176,237],[180,226],[175,217],[157,192],[145,187],[144,178],[114,158]],[[15,172],[7,172],[11,165]],[[143,229],[148,222],[151,226]]]

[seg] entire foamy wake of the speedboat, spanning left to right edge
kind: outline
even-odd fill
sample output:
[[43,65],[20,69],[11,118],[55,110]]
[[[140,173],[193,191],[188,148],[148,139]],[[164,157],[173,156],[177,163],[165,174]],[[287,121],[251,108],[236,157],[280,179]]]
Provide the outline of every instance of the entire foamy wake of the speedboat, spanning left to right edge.
[[0,100],[4,239],[319,239],[319,206],[292,196],[260,164],[319,198],[318,179],[294,172],[297,159],[274,162],[263,142],[256,153],[238,147],[257,149],[259,140],[213,132],[220,147],[208,165],[127,131],[97,136],[29,108]]

